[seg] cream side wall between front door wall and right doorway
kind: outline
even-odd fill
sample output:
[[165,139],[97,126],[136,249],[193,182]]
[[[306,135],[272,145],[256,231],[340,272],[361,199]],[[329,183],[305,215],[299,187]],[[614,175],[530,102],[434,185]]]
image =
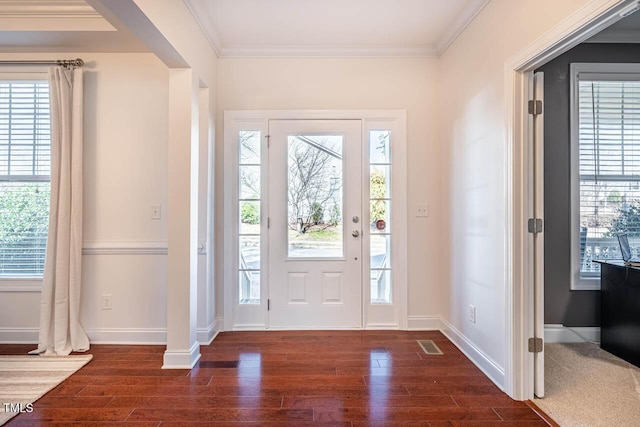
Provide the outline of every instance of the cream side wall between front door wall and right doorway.
[[[505,62],[586,0],[493,0],[440,58],[447,321],[504,381],[508,284]],[[514,286],[522,286],[516,283]],[[468,318],[476,307],[476,323]],[[479,358],[476,357],[476,361]],[[486,366],[486,365],[485,365]],[[502,372],[500,372],[502,371]]]

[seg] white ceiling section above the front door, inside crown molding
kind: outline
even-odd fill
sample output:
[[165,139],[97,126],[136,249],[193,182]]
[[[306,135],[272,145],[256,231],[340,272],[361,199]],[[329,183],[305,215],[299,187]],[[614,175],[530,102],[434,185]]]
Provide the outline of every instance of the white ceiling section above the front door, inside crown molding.
[[219,56],[438,56],[489,0],[185,0]]

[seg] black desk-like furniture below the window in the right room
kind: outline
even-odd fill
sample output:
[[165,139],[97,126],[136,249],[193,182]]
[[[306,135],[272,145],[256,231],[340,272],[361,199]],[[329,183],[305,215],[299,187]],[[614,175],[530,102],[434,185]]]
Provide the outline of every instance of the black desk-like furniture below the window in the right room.
[[600,347],[640,367],[640,268],[599,262]]

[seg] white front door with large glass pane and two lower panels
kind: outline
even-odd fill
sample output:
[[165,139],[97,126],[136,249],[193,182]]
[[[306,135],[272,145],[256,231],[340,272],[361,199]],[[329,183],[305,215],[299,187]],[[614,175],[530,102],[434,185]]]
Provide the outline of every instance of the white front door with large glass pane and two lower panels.
[[362,327],[362,123],[269,121],[268,325]]

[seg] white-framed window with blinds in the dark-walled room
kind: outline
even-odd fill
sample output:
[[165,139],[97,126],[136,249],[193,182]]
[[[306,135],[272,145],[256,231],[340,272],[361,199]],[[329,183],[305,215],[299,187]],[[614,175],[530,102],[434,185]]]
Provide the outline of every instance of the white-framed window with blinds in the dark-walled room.
[[640,247],[640,64],[571,70],[572,289],[599,289],[592,260],[620,259],[622,232]]

